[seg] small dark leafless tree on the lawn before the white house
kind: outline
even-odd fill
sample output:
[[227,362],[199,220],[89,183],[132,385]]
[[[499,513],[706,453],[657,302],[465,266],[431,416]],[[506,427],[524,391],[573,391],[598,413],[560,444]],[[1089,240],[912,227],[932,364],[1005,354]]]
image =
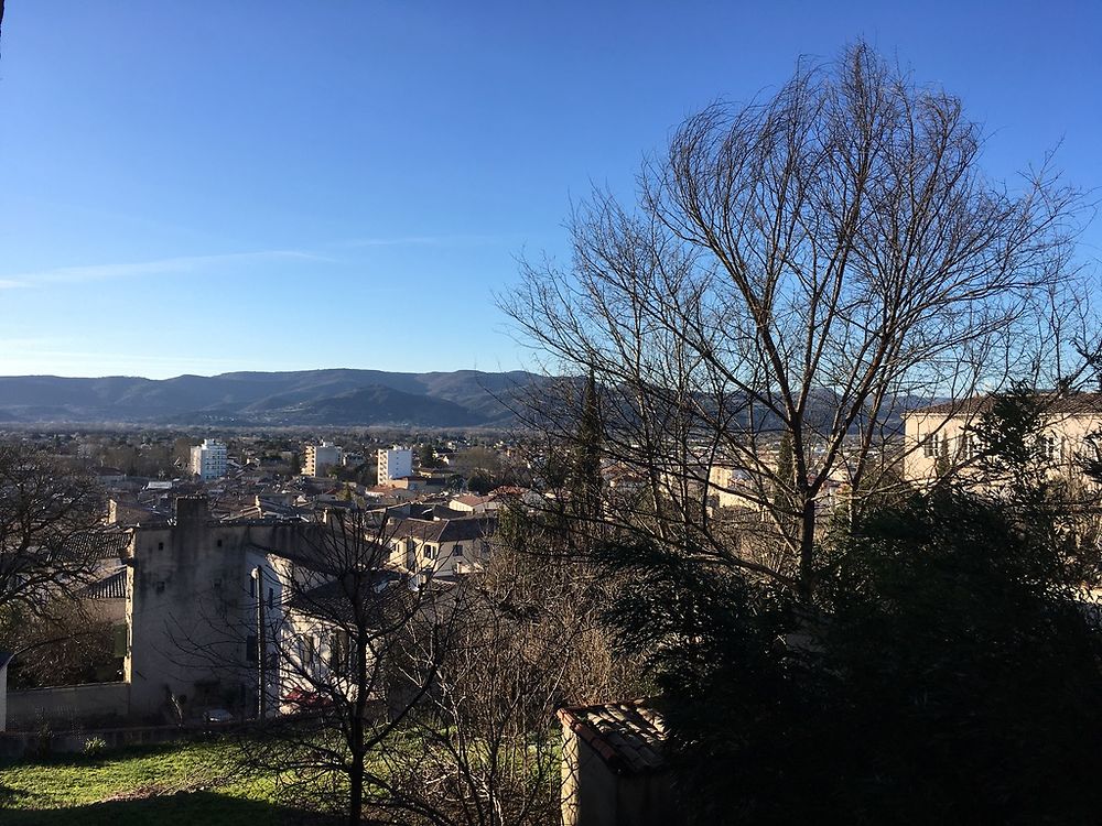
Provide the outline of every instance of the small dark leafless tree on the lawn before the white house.
[[296,550],[269,558],[278,604],[263,582],[256,589],[263,688],[242,745],[250,764],[277,771],[282,795],[358,824],[379,785],[371,757],[426,691],[395,675],[428,590],[388,567],[385,512],[328,511],[300,535]]

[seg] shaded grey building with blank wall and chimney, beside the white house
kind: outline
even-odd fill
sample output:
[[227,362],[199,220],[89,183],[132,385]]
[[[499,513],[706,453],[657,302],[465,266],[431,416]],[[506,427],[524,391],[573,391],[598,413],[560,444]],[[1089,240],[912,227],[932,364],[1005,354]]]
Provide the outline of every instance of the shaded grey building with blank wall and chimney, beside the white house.
[[[273,615],[279,610],[279,559],[301,547],[303,528],[214,521],[204,497],[181,497],[174,523],[133,529],[123,663],[131,716],[256,707],[258,598]],[[272,694],[274,671],[268,670]]]

